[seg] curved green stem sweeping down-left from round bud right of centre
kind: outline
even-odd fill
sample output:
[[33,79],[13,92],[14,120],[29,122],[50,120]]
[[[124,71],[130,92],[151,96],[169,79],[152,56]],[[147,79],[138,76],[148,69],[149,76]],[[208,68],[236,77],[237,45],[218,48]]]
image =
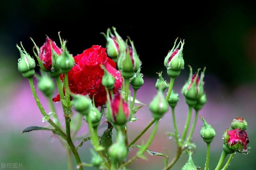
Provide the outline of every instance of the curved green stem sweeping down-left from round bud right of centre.
[[151,133],[150,137],[148,138],[148,142],[145,145],[143,145],[142,148],[140,148],[140,150],[136,154],[136,156],[134,156],[133,158],[131,158],[130,160],[125,162],[122,166],[120,166],[120,169],[122,169],[123,167],[128,166],[129,164],[134,162],[134,160],[136,160],[137,158],[139,158],[143,155],[143,153],[148,149],[148,147],[150,146],[150,144],[152,143],[152,140],[154,139],[154,137],[156,135],[158,124],[159,124],[159,121],[155,121],[155,125],[154,125],[154,128],[152,130],[152,133]]

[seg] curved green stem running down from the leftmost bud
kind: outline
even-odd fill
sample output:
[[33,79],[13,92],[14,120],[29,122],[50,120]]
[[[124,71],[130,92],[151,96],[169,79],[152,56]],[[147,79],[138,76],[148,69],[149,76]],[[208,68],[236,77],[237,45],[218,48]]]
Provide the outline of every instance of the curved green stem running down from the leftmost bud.
[[[42,107],[42,105],[39,101],[39,98],[36,94],[36,89],[35,89],[35,86],[34,86],[33,78],[29,78],[28,81],[29,81],[30,88],[31,88],[32,94],[34,96],[34,99],[36,101],[36,105],[38,106],[42,115],[44,117],[47,117],[48,115],[46,114],[46,112],[45,112],[44,108]],[[60,134],[60,136],[62,136],[62,138],[66,137],[66,134],[50,118],[49,118],[48,122],[50,123],[50,125],[52,125],[58,131],[58,133]]]

